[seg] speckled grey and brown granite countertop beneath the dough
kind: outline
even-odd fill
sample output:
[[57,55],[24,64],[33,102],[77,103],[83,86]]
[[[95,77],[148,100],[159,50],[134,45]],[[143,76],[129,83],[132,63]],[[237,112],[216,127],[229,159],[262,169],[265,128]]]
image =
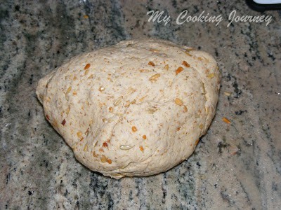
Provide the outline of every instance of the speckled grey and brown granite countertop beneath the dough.
[[[150,10],[171,19],[148,22]],[[178,25],[183,10],[223,20],[217,27]],[[281,13],[264,13],[272,17],[268,25],[227,27],[233,10],[262,15],[244,1],[2,1],[0,209],[280,209]],[[214,55],[222,73],[218,109],[181,165],[115,180],[77,162],[45,120],[34,91],[39,78],[65,59],[141,37]]]

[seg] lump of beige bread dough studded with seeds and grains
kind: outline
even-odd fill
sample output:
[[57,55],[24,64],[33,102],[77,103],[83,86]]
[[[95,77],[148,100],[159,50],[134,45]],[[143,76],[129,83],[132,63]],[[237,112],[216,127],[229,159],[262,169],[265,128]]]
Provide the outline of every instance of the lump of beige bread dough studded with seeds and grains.
[[208,53],[143,39],[73,57],[39,80],[37,97],[79,162],[120,179],[187,159],[214,118],[219,87]]

